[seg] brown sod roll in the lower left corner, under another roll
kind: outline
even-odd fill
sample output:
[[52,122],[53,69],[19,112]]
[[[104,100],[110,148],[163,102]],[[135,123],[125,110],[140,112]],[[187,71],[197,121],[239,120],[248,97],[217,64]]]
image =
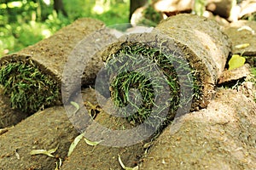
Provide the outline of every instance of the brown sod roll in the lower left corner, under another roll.
[[[0,169],[55,169],[76,136],[62,106],[39,111],[0,135]],[[32,150],[54,151],[46,156]]]

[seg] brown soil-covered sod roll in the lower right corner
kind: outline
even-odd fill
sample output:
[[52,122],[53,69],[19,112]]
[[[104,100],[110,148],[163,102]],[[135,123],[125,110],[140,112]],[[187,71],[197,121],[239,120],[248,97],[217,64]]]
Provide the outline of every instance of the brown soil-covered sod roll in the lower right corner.
[[189,113],[160,134],[140,169],[254,169],[256,105],[219,89],[207,109]]

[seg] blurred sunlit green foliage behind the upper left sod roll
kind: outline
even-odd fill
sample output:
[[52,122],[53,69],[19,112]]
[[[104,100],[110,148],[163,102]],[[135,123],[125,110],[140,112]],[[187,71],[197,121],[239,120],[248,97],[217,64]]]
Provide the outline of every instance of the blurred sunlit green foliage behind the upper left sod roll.
[[107,26],[128,23],[129,3],[129,0],[0,0],[0,57],[51,36],[80,17],[96,18]]

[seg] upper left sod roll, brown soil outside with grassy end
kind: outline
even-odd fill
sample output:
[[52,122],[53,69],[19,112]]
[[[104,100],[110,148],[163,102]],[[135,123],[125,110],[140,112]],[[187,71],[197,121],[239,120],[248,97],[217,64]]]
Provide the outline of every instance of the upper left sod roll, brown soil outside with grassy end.
[[[4,94],[9,96],[11,106],[32,114],[44,107],[60,104],[62,73],[68,57],[80,41],[96,31],[98,34],[99,31],[104,31],[102,21],[79,19],[57,31],[52,37],[1,58],[0,83],[3,84]],[[98,41],[99,44],[111,40],[108,31],[100,34],[102,39]],[[96,55],[81,55],[83,61],[73,60],[84,62],[82,83],[88,85],[94,82],[102,60]],[[74,65],[68,70],[76,71],[79,68]],[[62,80],[62,84],[66,85],[66,82],[67,79]],[[74,88],[77,82],[68,83],[68,86]]]

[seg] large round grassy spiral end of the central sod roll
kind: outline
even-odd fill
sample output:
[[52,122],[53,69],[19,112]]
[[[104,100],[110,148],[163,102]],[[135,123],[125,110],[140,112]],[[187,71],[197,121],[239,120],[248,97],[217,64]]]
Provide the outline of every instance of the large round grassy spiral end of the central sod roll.
[[[201,94],[195,71],[181,54],[143,42],[125,42],[106,58],[109,90],[116,111],[127,121],[159,128],[179,107]],[[182,73],[182,75],[180,75]],[[184,98],[189,90],[192,95]]]

